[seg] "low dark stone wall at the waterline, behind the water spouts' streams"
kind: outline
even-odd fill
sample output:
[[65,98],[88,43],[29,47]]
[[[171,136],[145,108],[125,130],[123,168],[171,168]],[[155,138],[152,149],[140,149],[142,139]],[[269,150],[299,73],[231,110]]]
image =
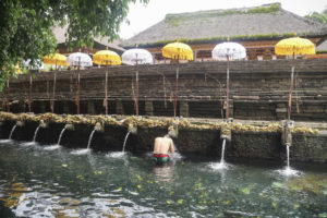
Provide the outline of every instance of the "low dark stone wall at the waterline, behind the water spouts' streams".
[[[8,138],[15,121],[0,124],[0,138]],[[12,138],[31,142],[38,122],[28,121],[24,126],[17,126]],[[40,146],[57,144],[63,123],[49,123],[40,128],[36,142]],[[66,130],[62,135],[61,145],[69,148],[86,148],[93,125],[75,124],[74,130]],[[105,125],[105,132],[95,132],[90,148],[93,150],[122,150],[128,128]],[[155,137],[167,133],[165,128],[141,128],[137,134],[131,134],[125,149],[129,152],[152,152]],[[222,142],[219,130],[180,129],[179,136],[173,138],[175,147],[182,155],[196,154],[220,159]],[[281,145],[280,133],[269,132],[232,132],[231,142],[227,142],[226,153],[229,158],[274,159],[284,161],[286,146]],[[291,161],[327,162],[327,134],[293,134],[293,145],[290,148]]]

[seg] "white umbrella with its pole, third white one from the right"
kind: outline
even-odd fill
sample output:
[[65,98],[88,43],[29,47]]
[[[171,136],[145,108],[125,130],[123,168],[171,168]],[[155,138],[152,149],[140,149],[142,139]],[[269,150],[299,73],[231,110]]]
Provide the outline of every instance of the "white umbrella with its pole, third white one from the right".
[[92,66],[93,62],[92,62],[90,57],[87,53],[82,53],[82,52],[71,53],[68,57],[66,62],[70,65],[78,68],[76,108],[77,108],[77,114],[80,114],[80,92],[81,92],[81,86],[80,86],[80,69],[81,68],[84,69],[85,66]]

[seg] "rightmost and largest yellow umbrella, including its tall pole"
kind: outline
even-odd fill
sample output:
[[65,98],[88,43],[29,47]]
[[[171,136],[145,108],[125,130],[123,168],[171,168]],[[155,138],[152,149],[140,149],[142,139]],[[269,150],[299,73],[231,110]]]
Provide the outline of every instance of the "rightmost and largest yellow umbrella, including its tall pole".
[[289,94],[289,110],[288,120],[291,119],[291,107],[292,107],[292,92],[294,81],[294,59],[298,55],[315,55],[315,45],[305,38],[292,37],[278,41],[275,46],[275,53],[278,56],[292,56],[292,73],[291,73],[291,85]]

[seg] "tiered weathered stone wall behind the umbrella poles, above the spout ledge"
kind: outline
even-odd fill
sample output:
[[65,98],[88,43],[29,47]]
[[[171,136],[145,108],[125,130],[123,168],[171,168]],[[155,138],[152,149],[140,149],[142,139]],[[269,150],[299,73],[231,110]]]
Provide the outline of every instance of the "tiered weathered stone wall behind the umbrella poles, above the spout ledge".
[[[179,116],[222,118],[226,62],[180,64]],[[140,113],[173,116],[174,64],[140,66]],[[81,112],[104,113],[106,69],[81,71]],[[135,66],[108,68],[109,113],[135,113]],[[235,119],[281,120],[287,116],[291,61],[230,63],[230,116]],[[32,111],[50,111],[55,72],[33,78]],[[77,71],[57,73],[56,113],[75,113]],[[292,119],[327,121],[327,60],[296,60]],[[27,111],[29,75],[10,80],[11,111]],[[1,95],[5,110],[7,94]]]

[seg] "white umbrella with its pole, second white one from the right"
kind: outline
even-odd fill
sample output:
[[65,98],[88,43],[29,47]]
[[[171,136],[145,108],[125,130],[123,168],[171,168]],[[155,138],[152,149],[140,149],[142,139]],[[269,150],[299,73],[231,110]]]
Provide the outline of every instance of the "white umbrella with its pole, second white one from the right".
[[141,48],[129,49],[121,56],[122,63],[136,65],[136,116],[138,116],[138,64],[153,64],[154,59],[150,52]]

